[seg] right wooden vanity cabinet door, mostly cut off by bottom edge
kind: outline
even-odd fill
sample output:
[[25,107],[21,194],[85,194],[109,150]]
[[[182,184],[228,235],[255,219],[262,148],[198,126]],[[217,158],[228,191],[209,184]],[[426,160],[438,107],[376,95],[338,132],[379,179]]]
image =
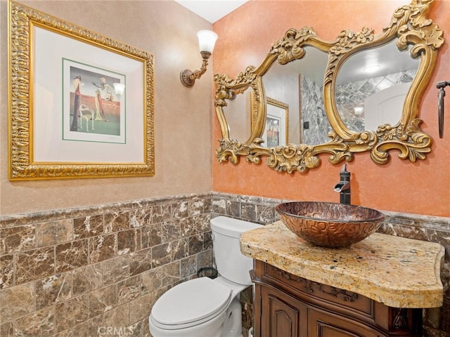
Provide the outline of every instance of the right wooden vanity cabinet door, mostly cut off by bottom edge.
[[308,311],[308,337],[377,337],[384,336],[363,324],[344,317]]

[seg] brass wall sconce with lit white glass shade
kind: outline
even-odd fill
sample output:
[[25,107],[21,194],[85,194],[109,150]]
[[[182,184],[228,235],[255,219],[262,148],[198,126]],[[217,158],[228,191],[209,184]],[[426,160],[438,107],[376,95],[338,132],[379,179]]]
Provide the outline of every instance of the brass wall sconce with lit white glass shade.
[[181,83],[188,88],[191,88],[191,86],[194,85],[195,79],[200,79],[200,77],[205,74],[208,58],[210,58],[211,53],[214,50],[214,44],[216,44],[217,40],[217,34],[211,30],[200,30],[200,32],[197,33],[197,36],[203,64],[200,70],[195,70],[195,72],[185,69],[180,73]]

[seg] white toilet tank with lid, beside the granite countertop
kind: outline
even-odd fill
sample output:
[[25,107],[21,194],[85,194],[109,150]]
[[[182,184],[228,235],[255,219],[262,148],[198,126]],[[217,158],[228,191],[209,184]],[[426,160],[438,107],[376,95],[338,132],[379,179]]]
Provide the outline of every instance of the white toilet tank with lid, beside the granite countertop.
[[218,216],[211,219],[212,248],[219,274],[231,282],[250,285],[253,259],[240,252],[240,234],[262,227],[257,223]]

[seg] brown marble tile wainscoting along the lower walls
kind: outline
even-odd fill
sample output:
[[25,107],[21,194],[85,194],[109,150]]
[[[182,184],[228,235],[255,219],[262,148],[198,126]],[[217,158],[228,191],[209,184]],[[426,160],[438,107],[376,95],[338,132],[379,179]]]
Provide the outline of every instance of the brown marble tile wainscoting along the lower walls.
[[[273,223],[283,201],[212,192],[0,218],[0,336],[150,336],[155,300],[212,265],[210,218]],[[385,214],[380,232],[445,247],[444,305],[423,326],[450,336],[450,218]],[[251,287],[241,301],[247,336]]]

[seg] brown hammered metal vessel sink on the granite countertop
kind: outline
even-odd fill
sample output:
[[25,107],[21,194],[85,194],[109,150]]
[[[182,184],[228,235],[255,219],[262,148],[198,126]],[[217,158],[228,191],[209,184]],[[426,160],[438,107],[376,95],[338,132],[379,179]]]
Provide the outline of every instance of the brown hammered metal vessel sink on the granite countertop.
[[326,247],[359,242],[378,230],[385,215],[362,206],[294,201],[275,206],[284,225],[298,237]]

